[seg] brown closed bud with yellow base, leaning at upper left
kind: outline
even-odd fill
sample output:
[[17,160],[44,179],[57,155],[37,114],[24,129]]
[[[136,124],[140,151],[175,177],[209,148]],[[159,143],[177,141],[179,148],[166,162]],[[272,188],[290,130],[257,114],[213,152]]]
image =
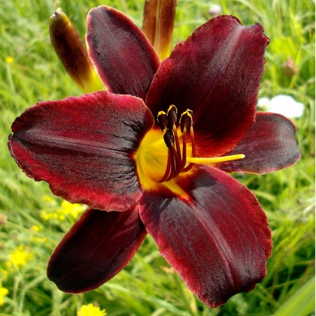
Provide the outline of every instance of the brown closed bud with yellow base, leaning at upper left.
[[104,89],[81,37],[60,8],[50,17],[50,41],[63,68],[84,93]]

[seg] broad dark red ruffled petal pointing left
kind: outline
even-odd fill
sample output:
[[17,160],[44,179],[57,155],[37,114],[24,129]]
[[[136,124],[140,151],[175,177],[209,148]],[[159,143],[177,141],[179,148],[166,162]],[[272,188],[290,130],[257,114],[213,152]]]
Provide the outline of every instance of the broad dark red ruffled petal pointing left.
[[152,124],[141,99],[95,92],[29,108],[12,124],[8,146],[26,175],[55,195],[126,210],[142,194],[134,153]]

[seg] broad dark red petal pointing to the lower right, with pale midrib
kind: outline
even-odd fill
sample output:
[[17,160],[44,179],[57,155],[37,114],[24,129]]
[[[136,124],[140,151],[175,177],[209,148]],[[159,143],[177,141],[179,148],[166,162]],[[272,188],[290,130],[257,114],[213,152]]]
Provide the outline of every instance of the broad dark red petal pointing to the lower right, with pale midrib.
[[[179,178],[186,192],[145,192],[140,215],[161,255],[210,307],[266,275],[271,234],[256,197],[225,172],[202,167]],[[179,190],[178,190],[179,192]]]

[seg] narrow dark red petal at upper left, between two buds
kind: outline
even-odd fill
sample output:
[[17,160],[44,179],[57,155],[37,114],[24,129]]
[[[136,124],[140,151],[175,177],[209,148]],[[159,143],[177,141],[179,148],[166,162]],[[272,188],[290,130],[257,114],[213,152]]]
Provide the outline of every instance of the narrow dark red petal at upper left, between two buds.
[[159,57],[143,32],[125,14],[106,6],[90,10],[88,53],[111,92],[146,98]]

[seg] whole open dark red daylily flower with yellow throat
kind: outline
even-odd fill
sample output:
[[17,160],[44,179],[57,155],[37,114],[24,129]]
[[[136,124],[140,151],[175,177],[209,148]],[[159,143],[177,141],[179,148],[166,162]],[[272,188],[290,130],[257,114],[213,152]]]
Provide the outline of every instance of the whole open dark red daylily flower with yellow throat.
[[300,157],[293,123],[256,113],[263,28],[215,17],[161,63],[115,9],[92,9],[87,28],[108,90],[37,103],[8,141],[26,175],[90,207],[55,249],[48,277],[68,293],[97,288],[150,233],[208,306],[252,290],[266,275],[270,229],[255,195],[224,171],[265,173]]

